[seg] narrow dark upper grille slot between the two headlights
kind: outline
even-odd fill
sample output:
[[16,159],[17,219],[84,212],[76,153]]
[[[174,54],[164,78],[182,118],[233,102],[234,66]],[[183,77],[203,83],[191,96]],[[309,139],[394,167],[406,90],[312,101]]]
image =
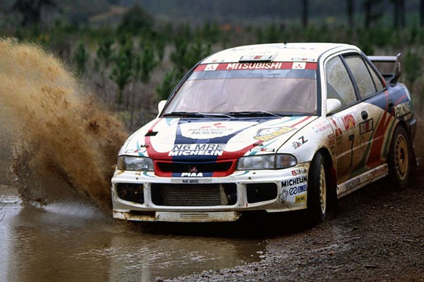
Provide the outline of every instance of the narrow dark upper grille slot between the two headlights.
[[184,173],[190,172],[195,167],[197,172],[228,171],[232,161],[221,162],[157,162],[157,166],[162,172]]

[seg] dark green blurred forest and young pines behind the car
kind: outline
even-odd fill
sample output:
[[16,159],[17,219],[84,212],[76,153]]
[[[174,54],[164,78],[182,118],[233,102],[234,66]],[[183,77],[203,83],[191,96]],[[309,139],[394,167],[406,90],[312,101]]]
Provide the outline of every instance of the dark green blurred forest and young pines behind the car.
[[128,132],[157,114],[193,65],[256,43],[340,42],[402,53],[424,104],[424,0],[1,0],[0,37],[55,53]]

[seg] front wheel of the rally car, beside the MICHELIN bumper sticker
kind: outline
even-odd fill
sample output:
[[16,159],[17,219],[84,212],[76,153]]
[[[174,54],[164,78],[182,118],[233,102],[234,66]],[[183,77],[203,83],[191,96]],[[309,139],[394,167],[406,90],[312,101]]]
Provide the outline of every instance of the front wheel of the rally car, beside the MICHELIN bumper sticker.
[[324,157],[317,153],[310,163],[308,174],[307,216],[313,225],[321,223],[327,215],[327,173]]

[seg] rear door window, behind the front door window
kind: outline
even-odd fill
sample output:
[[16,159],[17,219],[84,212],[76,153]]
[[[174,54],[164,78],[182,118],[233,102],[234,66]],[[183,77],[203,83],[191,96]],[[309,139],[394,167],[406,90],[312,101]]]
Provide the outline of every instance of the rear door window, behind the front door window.
[[369,71],[366,68],[366,65],[362,60],[361,56],[347,56],[345,60],[347,66],[353,74],[353,77],[355,78],[361,97],[366,97],[377,92],[371,75],[369,74]]

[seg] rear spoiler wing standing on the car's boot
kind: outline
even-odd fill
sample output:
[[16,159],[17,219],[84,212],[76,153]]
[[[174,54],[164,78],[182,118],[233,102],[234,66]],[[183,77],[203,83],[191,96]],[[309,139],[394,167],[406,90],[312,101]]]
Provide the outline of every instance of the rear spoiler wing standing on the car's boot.
[[396,56],[367,56],[389,84],[398,82],[401,76],[401,53]]

